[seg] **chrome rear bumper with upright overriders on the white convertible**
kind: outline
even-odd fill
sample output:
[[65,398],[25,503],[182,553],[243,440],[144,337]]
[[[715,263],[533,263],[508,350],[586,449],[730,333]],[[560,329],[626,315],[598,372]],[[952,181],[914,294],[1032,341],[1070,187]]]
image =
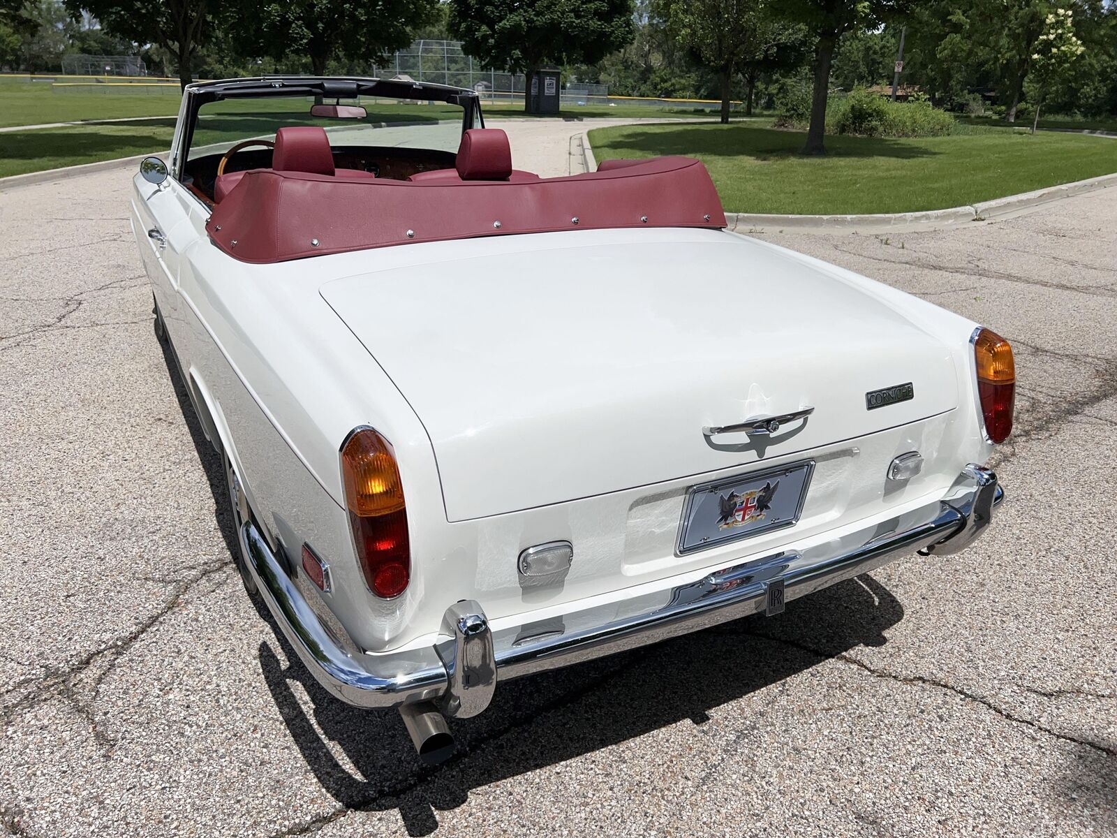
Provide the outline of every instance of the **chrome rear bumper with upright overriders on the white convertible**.
[[[448,716],[472,716],[493,697],[497,677],[569,666],[772,609],[770,589],[783,585],[782,607],[916,551],[956,553],[982,534],[1003,498],[996,475],[968,465],[942,501],[814,546],[726,568],[695,582],[617,603],[491,631],[481,607],[462,600],[447,609],[435,646],[361,654],[340,626],[319,620],[251,523],[240,531],[260,594],[315,678],[343,702],[391,707],[433,702]],[[623,616],[619,616],[619,615]]]

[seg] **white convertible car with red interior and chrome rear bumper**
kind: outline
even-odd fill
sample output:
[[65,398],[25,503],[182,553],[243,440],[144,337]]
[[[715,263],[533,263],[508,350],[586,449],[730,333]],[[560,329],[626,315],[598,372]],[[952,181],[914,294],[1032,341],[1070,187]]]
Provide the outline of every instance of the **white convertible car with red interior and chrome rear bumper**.
[[955,553],[1002,497],[1009,344],[726,232],[696,160],[540,178],[471,91],[214,82],[132,223],[246,587],[428,761],[502,680]]

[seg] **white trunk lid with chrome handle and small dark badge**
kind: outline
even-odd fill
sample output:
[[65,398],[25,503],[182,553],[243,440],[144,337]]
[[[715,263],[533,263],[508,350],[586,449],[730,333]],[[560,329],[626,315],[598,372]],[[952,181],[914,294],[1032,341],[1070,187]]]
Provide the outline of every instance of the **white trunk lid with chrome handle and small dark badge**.
[[[638,234],[323,286],[427,428],[450,521],[745,467],[958,404],[946,345],[847,283],[729,234]],[[866,410],[866,392],[908,381],[914,400]],[[701,432],[806,406],[771,438]]]

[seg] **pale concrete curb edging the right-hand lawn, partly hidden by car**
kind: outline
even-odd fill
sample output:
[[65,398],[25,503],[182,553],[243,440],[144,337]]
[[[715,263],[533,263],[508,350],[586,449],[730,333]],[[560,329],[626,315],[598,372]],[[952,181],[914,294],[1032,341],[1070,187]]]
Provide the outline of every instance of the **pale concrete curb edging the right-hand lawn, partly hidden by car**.
[[[585,171],[598,170],[590,132],[582,133],[582,154]],[[726,229],[732,232],[779,232],[802,230],[804,232],[913,232],[916,230],[942,230],[962,227],[973,221],[989,221],[994,218],[1013,218],[1033,209],[1098,189],[1117,185],[1117,173],[1102,174],[1072,183],[1038,189],[1034,192],[981,201],[973,206],[951,207],[922,212],[881,212],[867,216],[780,216],[750,212],[726,212]]]

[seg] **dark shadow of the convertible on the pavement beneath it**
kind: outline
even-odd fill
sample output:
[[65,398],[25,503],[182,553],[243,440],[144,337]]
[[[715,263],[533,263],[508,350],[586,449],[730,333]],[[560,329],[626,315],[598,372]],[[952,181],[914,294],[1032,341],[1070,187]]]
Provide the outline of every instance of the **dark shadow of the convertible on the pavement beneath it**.
[[[166,344],[162,349],[231,561],[238,541],[221,458],[202,432],[172,350]],[[779,617],[747,617],[500,683],[485,713],[450,722],[455,755],[441,765],[424,766],[395,711],[359,710],[330,695],[299,660],[262,600],[256,596],[251,602],[274,634],[259,647],[264,679],[307,766],[341,804],[338,812],[399,809],[412,836],[433,832],[435,811],[461,806],[475,788],[679,723],[694,725],[698,735],[717,735],[704,732],[715,708],[856,646],[881,646],[884,632],[904,616],[899,601],[865,575],[794,600]],[[750,712],[755,713],[752,725],[764,724],[763,701]]]

